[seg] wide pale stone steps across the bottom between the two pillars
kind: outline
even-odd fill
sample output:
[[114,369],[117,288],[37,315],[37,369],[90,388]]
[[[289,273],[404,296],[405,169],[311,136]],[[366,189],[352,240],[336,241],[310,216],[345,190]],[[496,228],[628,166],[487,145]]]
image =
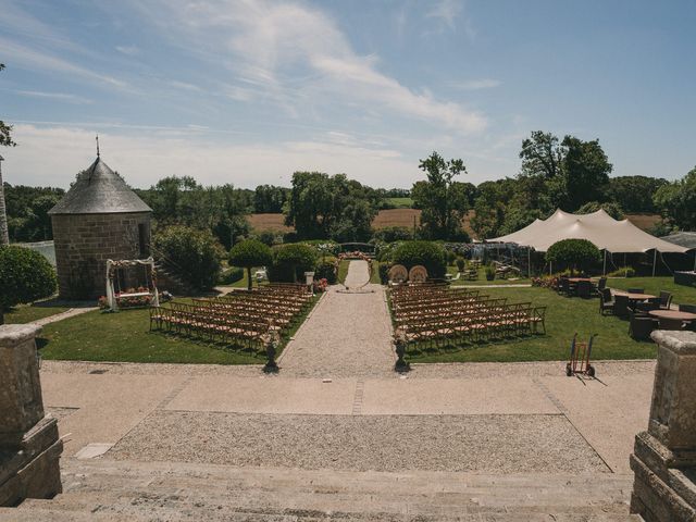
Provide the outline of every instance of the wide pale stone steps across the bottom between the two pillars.
[[303,471],[64,459],[64,493],[1,521],[639,521],[632,475]]

